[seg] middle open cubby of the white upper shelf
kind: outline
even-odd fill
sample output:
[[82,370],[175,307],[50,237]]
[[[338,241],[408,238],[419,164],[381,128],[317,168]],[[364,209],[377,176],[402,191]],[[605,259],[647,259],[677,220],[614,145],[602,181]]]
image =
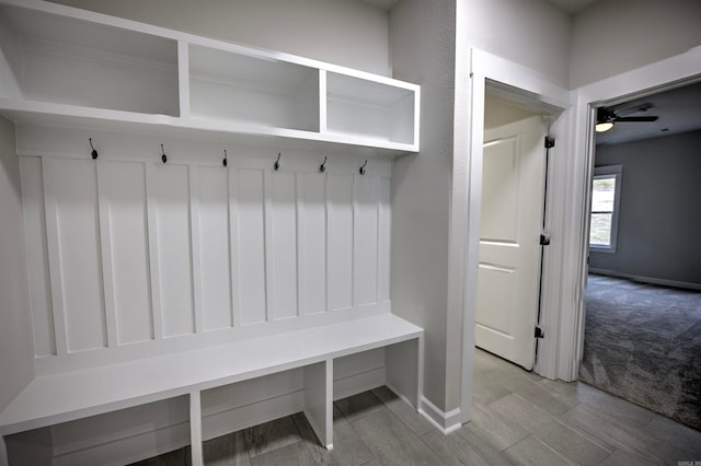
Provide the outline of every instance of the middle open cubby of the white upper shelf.
[[319,131],[319,70],[191,45],[191,115],[234,125]]

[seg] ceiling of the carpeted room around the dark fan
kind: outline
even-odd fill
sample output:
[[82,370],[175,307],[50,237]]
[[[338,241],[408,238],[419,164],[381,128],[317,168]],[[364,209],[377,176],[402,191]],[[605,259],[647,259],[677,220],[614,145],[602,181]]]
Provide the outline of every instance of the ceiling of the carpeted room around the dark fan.
[[607,106],[612,110],[624,110],[642,104],[653,104],[646,112],[625,116],[657,116],[657,121],[617,123],[607,132],[596,135],[597,144],[618,144],[640,139],[701,130],[701,82],[676,88],[670,91],[634,98],[617,105]]

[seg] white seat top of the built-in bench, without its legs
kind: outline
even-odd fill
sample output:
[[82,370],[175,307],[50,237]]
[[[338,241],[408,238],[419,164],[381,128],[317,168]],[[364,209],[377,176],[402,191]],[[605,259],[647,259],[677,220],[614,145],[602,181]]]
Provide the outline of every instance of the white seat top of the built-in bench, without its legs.
[[36,377],[0,415],[5,435],[418,337],[393,314],[347,321],[157,358]]

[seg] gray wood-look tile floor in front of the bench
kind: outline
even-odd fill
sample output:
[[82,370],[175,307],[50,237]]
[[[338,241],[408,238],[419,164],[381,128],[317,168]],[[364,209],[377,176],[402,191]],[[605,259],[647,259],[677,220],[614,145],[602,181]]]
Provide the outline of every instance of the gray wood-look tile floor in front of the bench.
[[[701,432],[582,383],[553,382],[486,352],[472,420],[443,435],[386,387],[334,404],[334,450],[301,413],[204,444],[207,465],[693,465]],[[186,465],[189,448],[139,465]]]

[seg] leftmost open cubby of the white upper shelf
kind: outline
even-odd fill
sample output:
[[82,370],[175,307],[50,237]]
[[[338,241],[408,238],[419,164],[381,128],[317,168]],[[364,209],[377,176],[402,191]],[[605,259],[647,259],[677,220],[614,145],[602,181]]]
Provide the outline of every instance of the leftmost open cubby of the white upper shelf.
[[0,96],[179,116],[177,42],[0,5]]

